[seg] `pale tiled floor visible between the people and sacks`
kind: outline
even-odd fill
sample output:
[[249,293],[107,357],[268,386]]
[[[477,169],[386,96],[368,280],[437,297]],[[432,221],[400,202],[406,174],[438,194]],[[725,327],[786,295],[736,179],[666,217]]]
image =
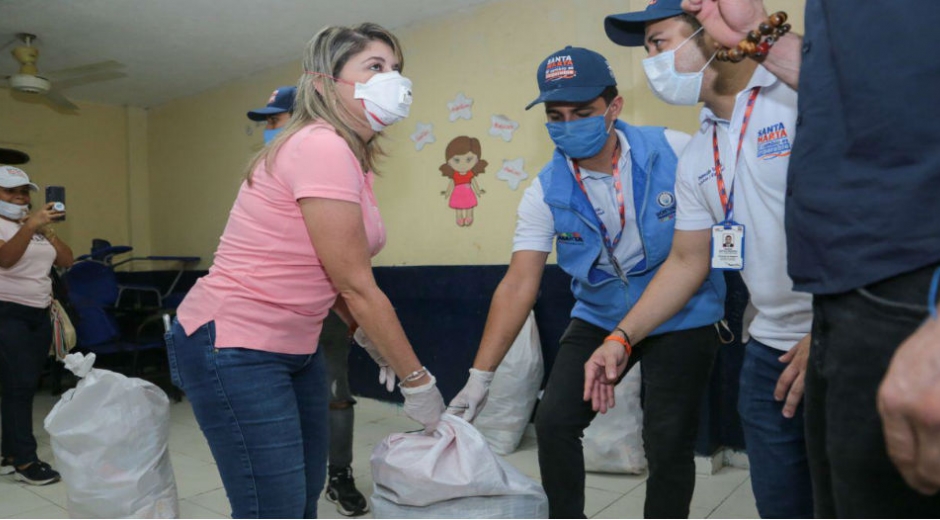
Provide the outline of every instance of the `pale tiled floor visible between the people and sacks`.
[[[36,397],[35,434],[40,458],[53,463],[49,436],[43,418],[57,398],[46,392]],[[170,454],[176,474],[182,518],[228,518],[229,506],[219,473],[205,438],[196,425],[187,401],[171,405]],[[401,408],[360,399],[356,407],[356,438],[353,472],[359,489],[372,489],[369,455],[372,446],[386,435],[415,429]],[[518,451],[506,457],[526,475],[538,480],[535,441],[526,438]],[[54,463],[53,463],[54,465]],[[67,518],[65,484],[35,487],[0,477],[0,518]],[[586,513],[591,518],[642,518],[645,476],[588,474]],[[335,506],[320,500],[322,518],[345,518]],[[747,470],[724,468],[717,474],[696,479],[692,499],[693,518],[757,518]]]

